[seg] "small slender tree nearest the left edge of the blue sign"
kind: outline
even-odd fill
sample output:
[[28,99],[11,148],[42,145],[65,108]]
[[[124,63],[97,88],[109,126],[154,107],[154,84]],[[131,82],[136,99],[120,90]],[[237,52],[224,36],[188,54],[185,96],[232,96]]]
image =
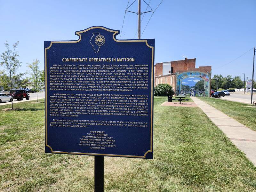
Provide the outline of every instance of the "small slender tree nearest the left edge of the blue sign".
[[33,88],[36,91],[36,102],[38,102],[37,100],[37,92],[40,91],[43,87],[42,87],[42,81],[40,79],[40,75],[41,75],[41,71],[39,70],[39,60],[33,60],[33,62],[27,63],[28,68],[30,69],[29,74],[30,74],[30,82],[32,83]]

